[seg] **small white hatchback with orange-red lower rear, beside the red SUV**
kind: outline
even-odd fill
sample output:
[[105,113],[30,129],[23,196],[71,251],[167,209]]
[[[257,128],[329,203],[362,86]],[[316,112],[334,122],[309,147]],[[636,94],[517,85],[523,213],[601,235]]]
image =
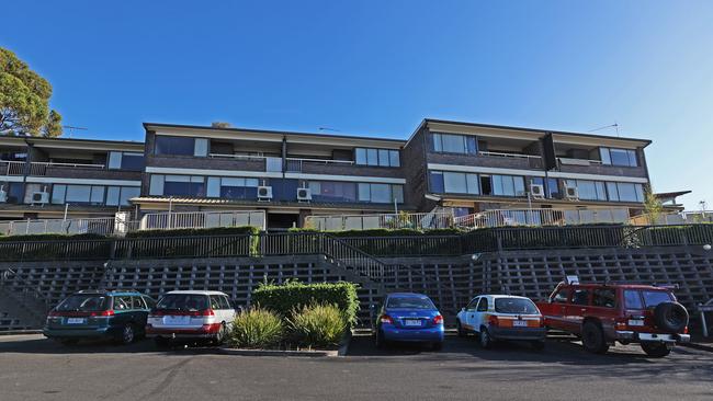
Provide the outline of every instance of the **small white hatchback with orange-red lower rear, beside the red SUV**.
[[536,350],[545,346],[547,335],[544,319],[535,303],[512,295],[480,295],[461,309],[455,320],[459,336],[474,333],[480,346],[488,348],[495,341],[527,341]]

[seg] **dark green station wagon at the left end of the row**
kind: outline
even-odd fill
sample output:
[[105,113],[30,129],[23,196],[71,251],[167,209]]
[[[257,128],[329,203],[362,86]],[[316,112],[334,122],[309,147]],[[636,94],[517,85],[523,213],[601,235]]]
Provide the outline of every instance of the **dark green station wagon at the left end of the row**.
[[151,297],[137,291],[79,291],[49,311],[43,334],[66,345],[88,339],[131,344],[145,335],[146,320],[155,303]]

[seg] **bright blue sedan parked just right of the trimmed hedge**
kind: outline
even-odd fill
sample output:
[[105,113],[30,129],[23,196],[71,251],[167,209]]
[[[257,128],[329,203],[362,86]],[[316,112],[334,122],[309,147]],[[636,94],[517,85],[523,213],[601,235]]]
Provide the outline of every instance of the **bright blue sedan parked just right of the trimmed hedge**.
[[443,346],[443,316],[426,295],[389,294],[373,309],[376,319],[372,328],[377,347],[389,342],[428,343],[437,351]]

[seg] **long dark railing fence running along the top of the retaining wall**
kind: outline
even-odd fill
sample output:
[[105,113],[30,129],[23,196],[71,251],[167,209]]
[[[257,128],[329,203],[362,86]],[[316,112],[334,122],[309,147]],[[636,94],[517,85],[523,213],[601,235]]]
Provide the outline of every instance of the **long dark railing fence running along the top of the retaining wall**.
[[713,225],[496,228],[452,236],[333,238],[324,232],[0,241],[0,261],[225,257],[325,254],[366,273],[374,256],[582,248],[644,248],[713,243]]

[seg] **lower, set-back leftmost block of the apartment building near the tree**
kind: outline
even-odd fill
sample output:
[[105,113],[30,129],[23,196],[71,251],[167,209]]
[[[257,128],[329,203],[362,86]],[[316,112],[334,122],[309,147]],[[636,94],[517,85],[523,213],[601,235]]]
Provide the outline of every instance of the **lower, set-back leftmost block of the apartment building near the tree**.
[[0,219],[112,216],[140,195],[144,144],[0,138]]

